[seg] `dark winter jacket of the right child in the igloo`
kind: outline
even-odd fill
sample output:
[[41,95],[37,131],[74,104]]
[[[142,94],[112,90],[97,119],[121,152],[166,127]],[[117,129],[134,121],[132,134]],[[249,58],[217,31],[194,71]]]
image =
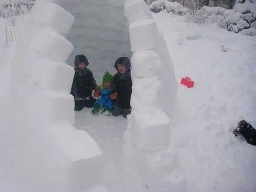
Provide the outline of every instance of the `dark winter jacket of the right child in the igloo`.
[[114,90],[118,94],[118,108],[130,109],[132,95],[132,78],[130,70],[125,74],[116,73],[114,75]]

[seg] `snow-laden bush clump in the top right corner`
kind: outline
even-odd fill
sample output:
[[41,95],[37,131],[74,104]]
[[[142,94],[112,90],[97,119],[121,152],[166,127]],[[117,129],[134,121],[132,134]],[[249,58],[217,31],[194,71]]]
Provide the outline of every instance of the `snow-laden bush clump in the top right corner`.
[[256,3],[237,3],[234,12],[231,12],[225,23],[228,31],[242,33],[244,35],[256,35]]

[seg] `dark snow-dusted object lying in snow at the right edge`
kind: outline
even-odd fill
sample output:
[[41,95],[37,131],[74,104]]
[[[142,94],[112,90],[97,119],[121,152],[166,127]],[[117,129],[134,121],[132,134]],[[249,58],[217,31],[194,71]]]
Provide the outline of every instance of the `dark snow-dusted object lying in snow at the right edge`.
[[256,130],[254,127],[245,120],[241,120],[238,126],[233,131],[234,136],[241,134],[247,143],[251,145],[256,145]]

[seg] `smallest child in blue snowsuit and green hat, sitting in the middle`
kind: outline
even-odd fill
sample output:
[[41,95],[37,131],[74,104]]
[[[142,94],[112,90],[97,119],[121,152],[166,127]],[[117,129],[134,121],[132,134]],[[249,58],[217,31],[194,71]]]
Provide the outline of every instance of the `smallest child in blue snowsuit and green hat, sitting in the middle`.
[[113,109],[113,102],[110,98],[112,93],[111,82],[113,80],[112,75],[106,71],[102,78],[102,84],[99,86],[99,90],[93,91],[93,97],[96,100],[92,114],[99,114],[99,108],[102,106],[103,110],[100,112],[102,115],[109,115]]

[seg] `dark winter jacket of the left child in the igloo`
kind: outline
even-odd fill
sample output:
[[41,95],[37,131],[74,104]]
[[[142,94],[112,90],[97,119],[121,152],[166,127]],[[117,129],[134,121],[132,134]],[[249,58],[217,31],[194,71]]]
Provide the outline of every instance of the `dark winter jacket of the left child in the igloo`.
[[72,83],[71,94],[74,98],[89,97],[92,90],[97,87],[93,73],[89,69],[80,70],[75,68],[75,75]]

